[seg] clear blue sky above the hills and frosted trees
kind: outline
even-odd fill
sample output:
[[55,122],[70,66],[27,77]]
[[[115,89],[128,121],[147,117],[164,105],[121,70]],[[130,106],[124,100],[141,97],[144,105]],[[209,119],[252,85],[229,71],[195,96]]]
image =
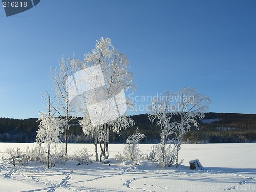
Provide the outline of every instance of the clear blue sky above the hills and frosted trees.
[[256,113],[255,0],[43,0],[10,17],[0,7],[0,117],[38,117],[50,66],[101,37],[129,58],[134,97],[193,86],[211,112]]

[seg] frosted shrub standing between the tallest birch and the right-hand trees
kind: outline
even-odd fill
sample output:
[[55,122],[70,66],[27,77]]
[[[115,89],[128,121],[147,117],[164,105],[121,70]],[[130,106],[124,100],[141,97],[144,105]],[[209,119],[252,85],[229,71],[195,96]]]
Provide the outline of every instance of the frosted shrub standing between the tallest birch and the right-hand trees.
[[141,151],[138,148],[138,144],[144,137],[145,135],[139,132],[137,129],[135,132],[133,132],[132,135],[129,135],[126,139],[126,144],[123,149],[123,153],[118,153],[115,158],[119,161],[133,162],[144,160],[145,156],[141,153]]

